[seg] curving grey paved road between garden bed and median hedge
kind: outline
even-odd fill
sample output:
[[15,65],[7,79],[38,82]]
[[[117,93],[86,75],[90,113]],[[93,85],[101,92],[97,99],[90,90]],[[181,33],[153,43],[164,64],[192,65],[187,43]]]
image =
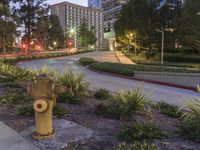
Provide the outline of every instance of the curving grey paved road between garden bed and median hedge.
[[99,61],[117,62],[114,53],[93,52],[62,58],[32,60],[23,62],[19,66],[22,68],[30,67],[39,69],[42,66],[47,65],[47,67],[49,68],[56,69],[59,74],[63,73],[66,69],[72,69],[74,72],[78,73],[83,72],[85,74],[85,79],[91,83],[92,88],[106,88],[113,92],[117,92],[120,90],[131,90],[136,87],[143,86],[144,93],[150,100],[163,100],[167,103],[175,104],[182,107],[186,106],[186,101],[192,101],[193,99],[200,97],[200,94],[189,90],[183,90],[151,83],[144,83],[141,81],[122,79],[118,77],[111,77],[108,75],[89,71],[85,67],[77,64],[77,61],[81,57],[93,57]]

